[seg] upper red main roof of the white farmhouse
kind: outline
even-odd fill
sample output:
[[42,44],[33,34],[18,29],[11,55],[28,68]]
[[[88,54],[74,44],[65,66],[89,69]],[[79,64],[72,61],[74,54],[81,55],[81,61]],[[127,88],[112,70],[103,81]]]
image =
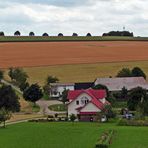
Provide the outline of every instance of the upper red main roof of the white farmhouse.
[[87,89],[87,90],[70,90],[68,92],[68,100],[75,100],[80,94],[87,93],[92,98],[96,99],[103,99],[106,97],[106,91],[105,90],[93,90],[93,89]]

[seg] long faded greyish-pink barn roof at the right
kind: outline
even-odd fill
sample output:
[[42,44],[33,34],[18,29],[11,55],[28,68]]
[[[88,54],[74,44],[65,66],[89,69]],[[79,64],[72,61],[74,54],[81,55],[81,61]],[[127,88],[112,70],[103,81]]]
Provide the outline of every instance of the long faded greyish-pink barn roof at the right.
[[142,87],[148,90],[148,82],[143,77],[97,78],[94,85],[98,84],[107,86],[110,92],[121,91],[123,87],[127,90],[135,87]]

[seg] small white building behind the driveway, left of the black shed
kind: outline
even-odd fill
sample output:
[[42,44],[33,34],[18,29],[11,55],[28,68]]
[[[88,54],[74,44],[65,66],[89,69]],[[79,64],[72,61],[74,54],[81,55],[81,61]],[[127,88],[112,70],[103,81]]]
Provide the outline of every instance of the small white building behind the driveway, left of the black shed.
[[59,98],[62,95],[62,92],[66,90],[74,90],[74,83],[51,83],[51,92],[50,96]]

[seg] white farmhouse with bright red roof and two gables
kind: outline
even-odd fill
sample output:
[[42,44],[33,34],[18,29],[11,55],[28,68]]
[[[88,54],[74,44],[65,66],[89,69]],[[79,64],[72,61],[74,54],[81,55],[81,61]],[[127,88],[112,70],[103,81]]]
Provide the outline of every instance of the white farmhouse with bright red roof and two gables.
[[106,101],[105,90],[73,90],[68,92],[68,116],[75,114],[79,120],[97,120],[97,113],[101,112],[105,105],[110,104]]

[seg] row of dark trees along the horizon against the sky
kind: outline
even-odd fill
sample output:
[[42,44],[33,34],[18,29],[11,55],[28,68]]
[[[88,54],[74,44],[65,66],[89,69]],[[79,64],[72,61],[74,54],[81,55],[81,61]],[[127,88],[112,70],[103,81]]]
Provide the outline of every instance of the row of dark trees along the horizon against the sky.
[[[3,31],[0,31],[0,36],[5,36],[5,33]],[[21,36],[21,32],[20,31],[15,31],[14,32],[14,36]],[[29,36],[35,36],[35,33],[34,32],[30,32],[29,33]],[[48,33],[43,33],[42,36],[49,36]],[[58,36],[64,36],[63,33],[59,33]],[[78,36],[78,33],[73,33],[72,36],[75,36],[77,37]],[[92,36],[91,33],[87,33],[86,36]],[[108,33],[103,33],[102,36],[131,36],[133,37],[133,32],[129,32],[129,31],[110,31]]]

